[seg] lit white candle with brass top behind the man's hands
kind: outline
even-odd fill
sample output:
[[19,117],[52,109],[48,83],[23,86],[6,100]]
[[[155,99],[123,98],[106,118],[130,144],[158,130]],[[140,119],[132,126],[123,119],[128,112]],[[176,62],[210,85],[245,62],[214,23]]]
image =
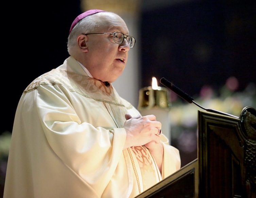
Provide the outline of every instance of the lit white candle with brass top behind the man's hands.
[[171,144],[170,104],[169,90],[158,86],[155,77],[152,77],[152,86],[139,90],[138,110],[142,116],[156,116],[156,120],[162,124],[162,133],[169,139]]

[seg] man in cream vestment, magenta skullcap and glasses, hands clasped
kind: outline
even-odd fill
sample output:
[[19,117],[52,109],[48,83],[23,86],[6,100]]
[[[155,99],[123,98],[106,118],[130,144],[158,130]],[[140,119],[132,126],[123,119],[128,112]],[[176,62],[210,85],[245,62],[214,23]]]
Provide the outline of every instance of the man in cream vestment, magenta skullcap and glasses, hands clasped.
[[135,38],[123,19],[89,10],[71,25],[68,57],[23,92],[4,198],[130,198],[180,169],[154,115],[112,86]]

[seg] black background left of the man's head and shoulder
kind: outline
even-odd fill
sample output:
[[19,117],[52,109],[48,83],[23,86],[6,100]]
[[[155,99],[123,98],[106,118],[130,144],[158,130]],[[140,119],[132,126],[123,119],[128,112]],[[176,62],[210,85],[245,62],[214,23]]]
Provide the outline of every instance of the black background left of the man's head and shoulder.
[[8,50],[4,50],[2,69],[2,78],[7,80],[7,94],[2,95],[6,114],[0,134],[12,131],[18,101],[29,83],[61,65],[68,57],[69,28],[81,14],[79,0],[46,0],[37,5],[10,2],[10,7],[10,14],[2,26],[2,29],[7,27],[3,38],[7,39]]

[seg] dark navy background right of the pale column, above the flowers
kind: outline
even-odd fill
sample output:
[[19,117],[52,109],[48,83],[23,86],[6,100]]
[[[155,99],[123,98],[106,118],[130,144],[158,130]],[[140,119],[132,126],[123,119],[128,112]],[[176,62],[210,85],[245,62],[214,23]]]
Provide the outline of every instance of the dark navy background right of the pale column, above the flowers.
[[190,1],[142,13],[142,85],[150,84],[148,77],[165,77],[193,96],[230,76],[240,91],[256,82],[255,5]]

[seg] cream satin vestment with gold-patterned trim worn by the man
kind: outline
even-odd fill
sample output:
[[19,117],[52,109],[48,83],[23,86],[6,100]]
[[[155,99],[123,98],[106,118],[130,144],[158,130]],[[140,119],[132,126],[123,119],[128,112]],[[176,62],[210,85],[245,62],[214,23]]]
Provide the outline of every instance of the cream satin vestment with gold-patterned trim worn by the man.
[[126,113],[139,115],[73,57],[35,79],[17,107],[4,198],[131,198],[180,169],[164,135],[162,174],[145,146],[123,150]]

